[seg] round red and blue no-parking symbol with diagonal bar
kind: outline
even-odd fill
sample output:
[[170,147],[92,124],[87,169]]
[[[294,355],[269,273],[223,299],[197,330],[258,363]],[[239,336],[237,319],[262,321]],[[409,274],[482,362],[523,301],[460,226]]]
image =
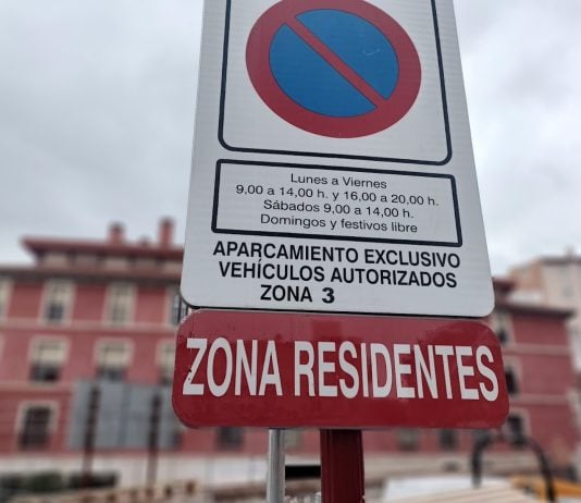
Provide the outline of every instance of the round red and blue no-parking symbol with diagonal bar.
[[421,65],[405,29],[360,0],[283,0],[252,27],[250,81],[286,122],[322,136],[386,130],[418,97]]

